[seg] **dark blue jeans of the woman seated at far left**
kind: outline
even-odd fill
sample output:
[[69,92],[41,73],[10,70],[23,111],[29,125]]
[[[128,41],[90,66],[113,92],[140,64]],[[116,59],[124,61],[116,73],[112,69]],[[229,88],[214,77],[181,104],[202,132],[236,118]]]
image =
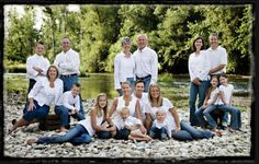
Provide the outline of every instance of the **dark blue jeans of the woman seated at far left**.
[[37,121],[42,121],[47,116],[47,114],[49,112],[49,106],[47,106],[45,104],[43,106],[40,106],[37,104],[37,101],[35,101],[35,99],[33,99],[33,103],[36,106],[36,108],[29,112],[27,107],[29,107],[30,102],[29,101],[26,102],[26,105],[23,109],[23,119],[25,119],[27,122],[33,119],[36,119]]

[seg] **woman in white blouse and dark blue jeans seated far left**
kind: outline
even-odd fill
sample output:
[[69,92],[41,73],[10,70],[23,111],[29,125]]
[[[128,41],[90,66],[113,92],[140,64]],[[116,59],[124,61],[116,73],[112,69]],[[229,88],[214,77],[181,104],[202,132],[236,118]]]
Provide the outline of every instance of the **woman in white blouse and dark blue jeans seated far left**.
[[12,121],[13,127],[9,129],[9,133],[18,127],[42,121],[50,105],[61,105],[63,81],[58,79],[58,69],[55,66],[49,66],[47,75],[37,80],[27,97],[22,118]]

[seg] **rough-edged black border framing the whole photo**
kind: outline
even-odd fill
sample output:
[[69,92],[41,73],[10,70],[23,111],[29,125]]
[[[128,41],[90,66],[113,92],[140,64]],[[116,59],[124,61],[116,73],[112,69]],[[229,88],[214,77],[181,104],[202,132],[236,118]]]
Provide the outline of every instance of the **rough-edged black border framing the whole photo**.
[[[252,12],[255,16],[252,25],[252,38],[251,38],[251,51],[254,61],[250,63],[252,75],[252,95],[251,95],[251,149],[250,156],[214,156],[205,159],[194,159],[194,160],[173,160],[173,159],[157,159],[157,160],[147,160],[147,159],[130,159],[130,157],[119,157],[119,159],[109,159],[109,157],[78,157],[78,159],[58,159],[58,157],[35,157],[35,159],[25,159],[25,157],[8,157],[4,156],[4,132],[3,132],[3,39],[4,39],[4,9],[5,4],[252,4]],[[256,103],[256,99],[259,101],[258,84],[259,84],[259,2],[257,0],[0,0],[0,163],[240,163],[240,164],[258,164],[259,163],[259,103]],[[257,155],[256,155],[257,154]]]

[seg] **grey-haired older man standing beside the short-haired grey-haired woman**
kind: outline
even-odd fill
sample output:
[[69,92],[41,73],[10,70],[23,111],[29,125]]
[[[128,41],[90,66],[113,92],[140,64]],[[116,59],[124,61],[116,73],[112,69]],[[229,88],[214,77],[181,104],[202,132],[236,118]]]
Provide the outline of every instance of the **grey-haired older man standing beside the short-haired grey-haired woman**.
[[149,85],[157,82],[158,57],[157,52],[147,47],[147,36],[137,36],[138,49],[133,54],[136,63],[136,80],[145,83],[144,92],[148,92]]

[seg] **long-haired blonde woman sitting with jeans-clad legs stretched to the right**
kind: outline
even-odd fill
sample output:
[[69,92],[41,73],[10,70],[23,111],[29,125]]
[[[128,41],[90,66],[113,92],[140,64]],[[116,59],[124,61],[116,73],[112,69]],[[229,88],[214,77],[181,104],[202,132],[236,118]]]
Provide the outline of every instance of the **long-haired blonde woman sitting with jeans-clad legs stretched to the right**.
[[180,121],[176,107],[168,98],[161,96],[160,87],[158,86],[158,84],[154,83],[150,85],[148,98],[149,102],[145,105],[147,129],[150,129],[151,121],[156,119],[156,112],[158,107],[164,107],[167,110],[166,119],[168,122],[171,122],[171,127],[169,129],[172,129],[171,137],[173,139],[187,141],[203,138],[209,139],[214,137],[215,134],[221,136],[218,131],[211,132],[205,130],[196,130],[190,125],[190,122],[185,120]]

